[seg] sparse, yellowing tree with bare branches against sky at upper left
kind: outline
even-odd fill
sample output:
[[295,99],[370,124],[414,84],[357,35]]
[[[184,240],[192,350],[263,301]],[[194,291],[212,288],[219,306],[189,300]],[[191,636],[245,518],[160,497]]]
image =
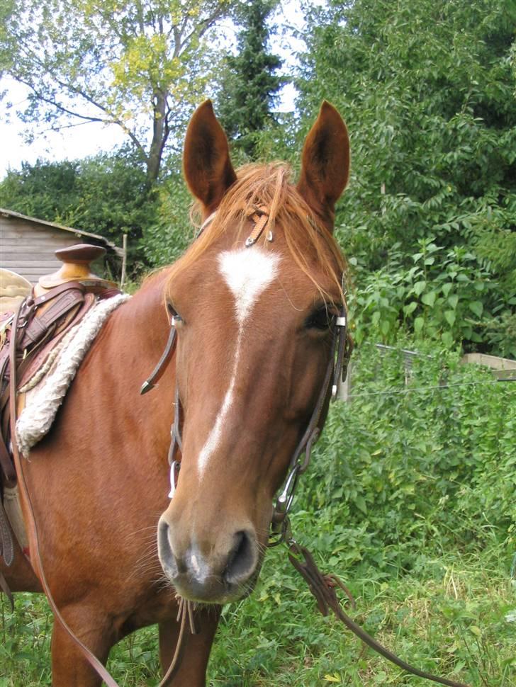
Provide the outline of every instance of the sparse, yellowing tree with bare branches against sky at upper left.
[[211,76],[206,35],[234,0],[6,0],[0,74],[28,88],[27,122],[116,124],[147,185]]

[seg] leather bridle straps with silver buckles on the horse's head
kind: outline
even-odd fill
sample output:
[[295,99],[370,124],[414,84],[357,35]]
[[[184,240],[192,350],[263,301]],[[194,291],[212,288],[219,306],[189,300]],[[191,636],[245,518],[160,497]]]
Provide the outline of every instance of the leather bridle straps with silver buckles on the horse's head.
[[[197,237],[200,236],[206,226],[210,224],[210,222],[213,220],[213,217],[215,217],[215,213],[210,215],[210,217],[205,220],[197,234]],[[264,227],[267,225],[267,212],[264,208],[256,208],[256,212],[251,215],[250,219],[254,221],[255,227],[245,242],[245,246],[247,248],[253,246],[259,238],[259,235],[262,234]],[[271,232],[267,234],[267,240],[272,241]],[[174,317],[172,317],[167,346],[165,346],[162,356],[159,358],[155,369],[152,371],[151,375],[147,377],[147,380],[143,382],[140,389],[140,394],[146,394],[149,392],[155,386],[156,382],[162,377],[164,370],[167,368],[168,363],[172,359],[175,346],[176,328]],[[288,462],[287,476],[283,486],[281,487],[280,494],[276,499],[276,505],[274,506],[271,518],[269,546],[276,546],[284,542],[288,537],[288,512],[291,509],[293,499],[296,494],[296,487],[298,485],[299,477],[303,475],[303,472],[307,470],[308,465],[310,464],[312,448],[313,445],[315,445],[315,442],[318,440],[320,433],[322,432],[322,428],[324,427],[330,400],[333,401],[337,397],[337,389],[339,387],[340,380],[344,381],[346,379],[347,367],[349,363],[349,357],[352,353],[352,348],[352,339],[347,330],[347,310],[345,304],[343,303],[338,316],[335,317],[335,322],[332,324],[332,346],[330,359],[328,360],[325,377],[322,382],[318,400],[315,404],[315,408],[313,409],[308,426],[303,433],[303,437],[298,443],[291,460]],[[179,469],[181,467],[181,458],[178,456],[178,453],[182,452],[181,426],[183,422],[181,418],[181,399],[179,398],[179,387],[177,382],[174,405],[175,414],[174,422],[172,423],[172,427],[170,429],[171,441],[168,453],[171,487],[169,498],[171,499],[172,496],[174,496],[177,480],[179,478]]]

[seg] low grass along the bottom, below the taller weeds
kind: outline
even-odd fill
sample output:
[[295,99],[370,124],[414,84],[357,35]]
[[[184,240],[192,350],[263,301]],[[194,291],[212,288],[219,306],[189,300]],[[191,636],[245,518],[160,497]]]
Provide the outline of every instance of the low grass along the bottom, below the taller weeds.
[[[425,572],[388,579],[364,569],[347,579],[349,611],[383,645],[420,669],[472,687],[516,685],[516,598],[503,547],[429,560]],[[321,569],[327,567],[320,563]],[[50,685],[51,614],[40,596],[0,611],[0,687]],[[511,615],[512,614],[512,615]],[[156,685],[157,632],[113,649],[120,686]],[[323,618],[284,550],[271,551],[252,597],[225,608],[208,671],[212,687],[426,685]]]

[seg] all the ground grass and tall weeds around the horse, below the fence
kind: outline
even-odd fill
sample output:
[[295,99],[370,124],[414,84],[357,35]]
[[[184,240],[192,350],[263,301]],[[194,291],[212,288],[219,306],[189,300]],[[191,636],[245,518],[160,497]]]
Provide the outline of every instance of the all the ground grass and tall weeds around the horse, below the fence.
[[[430,353],[409,382],[420,391],[406,394],[398,353],[363,347],[357,395],[332,409],[293,531],[322,572],[349,586],[352,617],[401,658],[471,687],[516,686],[516,385]],[[0,687],[50,685],[50,628],[43,598],[18,595],[15,613],[1,602]],[[120,642],[108,667],[122,686],[157,685],[155,628]],[[224,609],[208,678],[212,687],[429,684],[323,618],[283,547],[268,553],[254,594]]]

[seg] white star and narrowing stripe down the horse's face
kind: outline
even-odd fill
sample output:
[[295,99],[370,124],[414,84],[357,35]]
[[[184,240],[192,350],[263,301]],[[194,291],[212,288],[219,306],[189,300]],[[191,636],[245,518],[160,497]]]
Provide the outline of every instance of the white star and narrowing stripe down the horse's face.
[[218,256],[218,269],[235,299],[238,336],[228,391],[225,393],[223,404],[215,419],[215,424],[213,424],[206,443],[201,448],[201,453],[199,453],[198,467],[201,477],[208,463],[208,458],[218,447],[223,425],[233,402],[233,390],[237,377],[240,346],[242,344],[245,323],[259,296],[276,276],[278,263],[279,256],[262,251],[257,246],[237,251],[224,251]]

